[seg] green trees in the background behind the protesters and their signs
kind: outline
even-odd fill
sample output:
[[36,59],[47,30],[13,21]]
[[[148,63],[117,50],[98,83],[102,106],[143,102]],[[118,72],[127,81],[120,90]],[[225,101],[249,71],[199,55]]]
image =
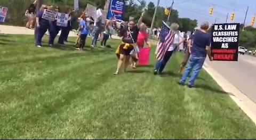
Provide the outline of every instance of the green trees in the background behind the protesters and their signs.
[[[145,18],[143,22],[146,23],[148,27],[150,27],[152,18],[155,12],[155,4],[149,2],[146,4],[144,0],[141,1],[140,4],[134,2],[134,0],[124,0],[126,2],[125,12],[123,15],[123,20],[128,21],[129,17],[134,17],[134,20],[138,20],[140,18],[141,12],[146,11]],[[25,17],[25,11],[28,8],[30,3],[33,3],[33,0],[1,0],[0,6],[8,7],[6,23],[13,24],[16,26],[23,26],[27,22]],[[86,5],[92,4],[96,7],[103,9],[106,0],[81,0],[79,1],[79,12],[82,12]],[[74,1],[73,0],[44,0],[44,4],[47,5],[58,5],[61,10],[65,11],[68,7],[73,8]],[[156,14],[156,20],[154,27],[158,28],[162,26],[162,21],[167,20],[167,15],[164,14],[165,7],[158,7],[158,11]],[[189,18],[179,18],[179,12],[177,10],[171,11],[170,22],[177,22],[180,24],[181,31],[193,30],[193,28],[197,25],[196,20],[191,20]]]

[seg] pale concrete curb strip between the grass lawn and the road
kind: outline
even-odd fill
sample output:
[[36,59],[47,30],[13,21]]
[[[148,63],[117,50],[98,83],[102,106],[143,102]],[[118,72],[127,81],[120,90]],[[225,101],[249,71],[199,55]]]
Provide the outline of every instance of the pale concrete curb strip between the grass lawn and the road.
[[206,62],[204,63],[203,68],[225,92],[231,93],[229,96],[256,125],[256,104],[234,85],[229,83],[228,80],[222,77],[220,73],[211,68]]

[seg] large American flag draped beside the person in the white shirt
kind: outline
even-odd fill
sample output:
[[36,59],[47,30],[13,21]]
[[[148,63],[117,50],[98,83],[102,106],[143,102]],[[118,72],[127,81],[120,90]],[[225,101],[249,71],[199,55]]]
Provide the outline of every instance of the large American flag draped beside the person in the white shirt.
[[171,31],[170,27],[163,21],[162,22],[162,29],[160,31],[160,39],[157,44],[157,60],[162,60],[165,53],[168,51],[169,47],[172,45],[174,41],[175,33]]

